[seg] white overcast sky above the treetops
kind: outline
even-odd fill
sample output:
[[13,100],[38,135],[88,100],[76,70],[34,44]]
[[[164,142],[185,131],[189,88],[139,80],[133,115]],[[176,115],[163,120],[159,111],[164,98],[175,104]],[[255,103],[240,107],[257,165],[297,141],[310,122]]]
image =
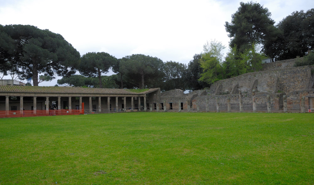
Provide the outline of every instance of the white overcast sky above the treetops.
[[[81,55],[145,54],[188,64],[206,41],[230,39],[225,22],[241,0],[0,0],[0,24],[30,24],[60,33]],[[247,1],[243,1],[247,2]],[[254,1],[255,2],[255,1]],[[279,23],[312,0],[257,0]],[[42,82],[39,85],[55,85]]]

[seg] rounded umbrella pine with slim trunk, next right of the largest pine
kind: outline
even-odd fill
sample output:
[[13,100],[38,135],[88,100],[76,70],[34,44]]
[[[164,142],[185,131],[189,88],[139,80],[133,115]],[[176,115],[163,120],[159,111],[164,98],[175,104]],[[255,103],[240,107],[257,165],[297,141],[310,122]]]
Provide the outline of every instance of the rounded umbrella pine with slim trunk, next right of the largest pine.
[[108,73],[109,69],[114,66],[117,59],[105,52],[92,52],[84,54],[81,57],[79,72],[88,77],[98,77],[99,86],[102,88],[101,74]]

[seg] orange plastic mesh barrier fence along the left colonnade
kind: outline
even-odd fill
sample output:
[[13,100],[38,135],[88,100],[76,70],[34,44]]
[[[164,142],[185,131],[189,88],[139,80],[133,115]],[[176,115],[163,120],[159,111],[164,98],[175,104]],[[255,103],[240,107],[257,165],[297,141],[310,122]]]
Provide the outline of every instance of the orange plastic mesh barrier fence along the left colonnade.
[[84,114],[84,110],[0,110],[0,118],[32,117],[32,116],[60,116]]

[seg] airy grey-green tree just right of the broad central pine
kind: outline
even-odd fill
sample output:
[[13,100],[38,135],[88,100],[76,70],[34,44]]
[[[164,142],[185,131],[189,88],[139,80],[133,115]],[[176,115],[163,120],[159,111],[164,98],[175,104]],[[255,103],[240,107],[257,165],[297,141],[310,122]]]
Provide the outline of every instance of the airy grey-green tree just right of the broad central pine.
[[161,90],[181,89],[186,90],[187,84],[183,76],[186,73],[187,66],[185,64],[173,61],[164,63],[163,84]]

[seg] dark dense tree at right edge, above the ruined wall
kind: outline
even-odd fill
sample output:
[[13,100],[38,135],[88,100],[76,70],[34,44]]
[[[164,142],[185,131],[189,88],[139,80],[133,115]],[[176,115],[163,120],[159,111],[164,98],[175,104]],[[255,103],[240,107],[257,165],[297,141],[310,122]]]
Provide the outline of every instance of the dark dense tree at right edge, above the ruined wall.
[[303,57],[314,49],[314,8],[293,12],[276,25],[277,37],[267,40],[264,52],[275,60]]

